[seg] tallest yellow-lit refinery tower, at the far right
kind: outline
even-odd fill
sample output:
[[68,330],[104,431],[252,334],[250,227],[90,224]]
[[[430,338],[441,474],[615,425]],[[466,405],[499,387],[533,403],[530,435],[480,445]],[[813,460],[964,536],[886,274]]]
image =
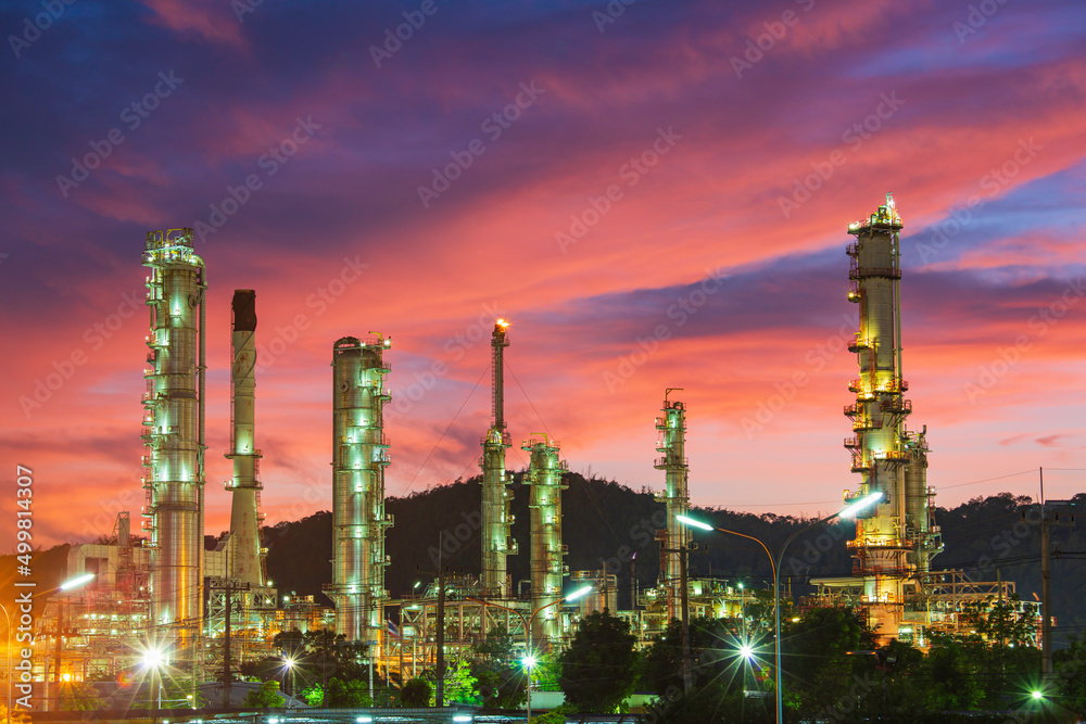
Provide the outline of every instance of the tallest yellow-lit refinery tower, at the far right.
[[848,299],[860,306],[859,331],[849,343],[857,354],[860,379],[849,383],[856,403],[845,407],[856,435],[845,441],[853,455],[853,472],[862,475],[857,494],[846,501],[882,492],[883,501],[860,513],[856,539],[849,542],[854,573],[864,579],[864,598],[871,604],[871,623],[884,636],[897,636],[902,581],[914,567],[909,562],[913,542],[906,534],[909,508],[905,467],[905,418],[912,405],[904,398],[909,385],[901,373],[900,238],[901,218],[894,200],[863,221],[850,224],[856,243],[850,257]]

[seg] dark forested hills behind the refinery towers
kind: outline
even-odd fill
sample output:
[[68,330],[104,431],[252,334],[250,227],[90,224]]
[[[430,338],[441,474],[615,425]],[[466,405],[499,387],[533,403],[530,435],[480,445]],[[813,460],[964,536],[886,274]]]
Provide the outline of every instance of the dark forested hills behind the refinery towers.
[[[520,552],[509,557],[514,586],[528,576],[528,487],[522,475],[514,475],[513,534]],[[607,567],[619,576],[619,606],[630,606],[632,575],[640,588],[656,582],[659,546],[654,531],[664,523],[662,504],[647,492],[635,492],[597,478],[570,473],[563,493],[563,533],[569,547],[571,571]],[[387,510],[395,517],[389,529],[387,552],[392,564],[387,587],[392,596],[405,594],[417,581],[428,582],[435,570],[439,533],[444,532],[445,560],[453,570],[479,571],[479,479],[456,481],[404,498],[390,498]],[[1086,494],[1075,497],[1086,509]],[[933,570],[963,568],[973,580],[995,580],[998,574],[1018,584],[1023,599],[1040,595],[1040,533],[1037,516],[1027,497],[1003,493],[974,498],[952,509],[936,508],[935,522],[943,530],[946,550]],[[761,538],[776,550],[798,528],[811,521],[771,513],[754,516],[729,510],[695,510],[718,528]],[[1063,517],[1066,520],[1066,516]],[[788,548],[782,581],[796,595],[808,593],[811,577],[848,575],[851,558],[845,542],[854,534],[851,523],[812,530]],[[1074,528],[1053,528],[1051,539],[1052,598],[1059,634],[1081,633],[1086,626],[1086,518]],[[265,530],[268,573],[282,590],[320,594],[331,580],[331,515],[317,512],[296,522]],[[754,542],[721,533],[696,533],[699,548],[691,555],[696,575],[742,580],[749,585],[769,585],[766,554]],[[327,600],[327,599],[325,599]]]

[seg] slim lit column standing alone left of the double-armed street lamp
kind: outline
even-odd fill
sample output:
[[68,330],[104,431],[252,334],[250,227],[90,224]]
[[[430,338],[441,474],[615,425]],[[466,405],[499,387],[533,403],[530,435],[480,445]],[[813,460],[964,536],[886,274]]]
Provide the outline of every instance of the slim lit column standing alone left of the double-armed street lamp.
[[682,559],[679,552],[685,548],[691,541],[691,531],[677,520],[678,516],[685,516],[690,512],[690,494],[686,482],[690,474],[690,467],[686,463],[686,406],[681,402],[669,402],[668,390],[664,394],[662,417],[656,418],[656,429],[659,431],[659,441],[656,444],[656,452],[664,456],[657,458],[656,469],[664,470],[667,487],[661,499],[667,504],[668,529],[666,532],[666,545],[664,546],[664,570],[661,584],[668,595],[668,620],[679,618],[682,601]]

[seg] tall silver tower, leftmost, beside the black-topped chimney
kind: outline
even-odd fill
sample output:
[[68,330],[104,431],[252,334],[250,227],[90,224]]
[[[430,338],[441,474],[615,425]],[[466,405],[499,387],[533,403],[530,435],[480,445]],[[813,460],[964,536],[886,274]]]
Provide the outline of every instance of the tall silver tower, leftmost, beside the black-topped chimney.
[[151,269],[141,435],[147,444],[143,515],[153,549],[151,620],[179,624],[176,633],[184,642],[203,618],[206,270],[188,228],[149,232],[143,265]]

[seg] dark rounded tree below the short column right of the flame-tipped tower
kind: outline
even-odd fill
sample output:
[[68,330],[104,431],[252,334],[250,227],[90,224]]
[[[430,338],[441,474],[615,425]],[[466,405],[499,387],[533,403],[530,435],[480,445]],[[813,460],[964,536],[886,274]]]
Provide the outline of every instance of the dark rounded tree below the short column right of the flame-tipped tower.
[[633,694],[640,656],[630,624],[607,611],[581,619],[558,657],[566,701],[581,711],[614,712]]

